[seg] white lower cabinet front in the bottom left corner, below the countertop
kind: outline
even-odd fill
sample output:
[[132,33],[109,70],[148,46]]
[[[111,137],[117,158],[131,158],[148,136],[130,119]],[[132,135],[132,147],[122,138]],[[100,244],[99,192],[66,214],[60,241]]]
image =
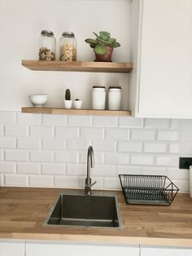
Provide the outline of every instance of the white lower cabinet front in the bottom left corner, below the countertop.
[[0,240],[1,256],[24,256],[24,241]]

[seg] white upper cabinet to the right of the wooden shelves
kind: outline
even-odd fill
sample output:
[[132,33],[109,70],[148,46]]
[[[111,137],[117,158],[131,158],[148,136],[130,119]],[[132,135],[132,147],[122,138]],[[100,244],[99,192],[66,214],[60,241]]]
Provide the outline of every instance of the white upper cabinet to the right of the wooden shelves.
[[192,118],[192,1],[133,0],[129,109]]

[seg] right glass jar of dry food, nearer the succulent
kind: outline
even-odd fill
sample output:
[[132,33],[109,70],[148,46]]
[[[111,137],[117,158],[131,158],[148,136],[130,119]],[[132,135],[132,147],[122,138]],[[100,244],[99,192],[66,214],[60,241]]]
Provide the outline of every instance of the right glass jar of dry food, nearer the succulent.
[[59,60],[75,61],[76,60],[76,38],[72,32],[63,32],[59,43]]

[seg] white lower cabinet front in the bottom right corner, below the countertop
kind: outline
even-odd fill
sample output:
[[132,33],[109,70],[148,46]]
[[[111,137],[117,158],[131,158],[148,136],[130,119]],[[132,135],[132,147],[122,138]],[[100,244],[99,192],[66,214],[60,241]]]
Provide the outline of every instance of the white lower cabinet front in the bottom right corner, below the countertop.
[[191,256],[192,249],[141,248],[141,256]]

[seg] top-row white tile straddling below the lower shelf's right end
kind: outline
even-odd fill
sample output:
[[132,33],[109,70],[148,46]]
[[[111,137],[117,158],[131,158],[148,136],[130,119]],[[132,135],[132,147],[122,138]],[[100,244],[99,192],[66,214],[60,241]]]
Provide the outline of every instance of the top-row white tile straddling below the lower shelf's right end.
[[135,117],[119,117],[119,126],[120,127],[129,127],[129,128],[142,128],[143,119]]

